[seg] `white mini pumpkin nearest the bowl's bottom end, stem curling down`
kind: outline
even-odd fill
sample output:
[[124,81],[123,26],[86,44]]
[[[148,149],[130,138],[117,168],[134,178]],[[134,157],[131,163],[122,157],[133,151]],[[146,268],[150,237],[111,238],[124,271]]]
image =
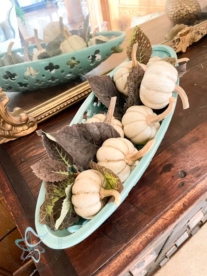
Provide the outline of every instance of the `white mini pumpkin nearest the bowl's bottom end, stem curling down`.
[[105,197],[115,196],[115,205],[120,204],[120,194],[116,190],[105,190],[104,175],[95,170],[81,172],[72,186],[72,204],[75,213],[85,219],[92,219],[106,204]]

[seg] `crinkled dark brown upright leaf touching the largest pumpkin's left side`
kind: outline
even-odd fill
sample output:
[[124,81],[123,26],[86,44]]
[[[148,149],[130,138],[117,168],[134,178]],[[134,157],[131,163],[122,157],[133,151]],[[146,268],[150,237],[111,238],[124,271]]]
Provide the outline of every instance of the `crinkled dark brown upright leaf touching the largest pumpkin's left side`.
[[127,77],[128,100],[124,105],[124,111],[132,105],[142,105],[140,100],[140,84],[144,77],[144,69],[137,63]]

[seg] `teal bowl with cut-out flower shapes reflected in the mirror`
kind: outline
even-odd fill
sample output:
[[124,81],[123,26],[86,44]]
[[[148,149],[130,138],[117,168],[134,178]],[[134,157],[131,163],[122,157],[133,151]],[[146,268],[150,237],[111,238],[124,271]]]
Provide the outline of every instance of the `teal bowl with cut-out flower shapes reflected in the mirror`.
[[[120,46],[126,37],[126,34],[121,31],[96,33],[96,36],[98,35],[109,38],[115,36],[115,38],[72,53],[0,67],[0,87],[6,92],[35,90],[69,82],[90,72],[111,56],[111,48]],[[45,48],[44,43],[41,43],[41,45]],[[37,50],[36,44],[29,46],[30,53],[34,49]],[[23,48],[16,49],[12,53],[23,55]],[[0,55],[0,59],[4,54]],[[91,56],[95,54],[98,54],[98,56],[95,56],[92,62]],[[78,61],[78,64],[67,65],[67,62],[71,59]],[[38,73],[34,77],[25,75],[28,67],[38,70]]]

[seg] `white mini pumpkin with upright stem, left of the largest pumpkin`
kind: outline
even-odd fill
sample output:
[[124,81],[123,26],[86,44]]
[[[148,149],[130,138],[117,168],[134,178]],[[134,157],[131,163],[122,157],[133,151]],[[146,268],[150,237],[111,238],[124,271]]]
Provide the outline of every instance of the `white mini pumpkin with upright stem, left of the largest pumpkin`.
[[[127,77],[129,73],[131,72],[132,68],[134,68],[137,64],[136,60],[136,50],[137,50],[138,44],[134,44],[132,48],[132,60],[126,61],[121,63],[121,65],[118,67],[117,71],[113,75],[113,81],[115,82],[115,85],[120,93],[124,94],[125,96],[128,96],[127,92]],[[145,64],[139,63],[144,71],[147,69],[147,66]]]

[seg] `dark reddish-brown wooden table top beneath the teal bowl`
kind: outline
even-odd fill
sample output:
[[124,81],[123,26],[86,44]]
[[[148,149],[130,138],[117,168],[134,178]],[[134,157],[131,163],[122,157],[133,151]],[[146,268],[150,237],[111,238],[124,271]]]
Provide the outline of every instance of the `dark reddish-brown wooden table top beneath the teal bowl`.
[[[163,42],[171,27],[165,15],[142,24],[152,44]],[[131,33],[128,30],[127,39]],[[123,45],[126,47],[126,42]],[[62,250],[60,256],[45,247],[38,264],[41,275],[118,275],[207,191],[207,36],[178,57],[190,59],[187,74],[180,79],[190,108],[183,110],[178,98],[171,124],[149,167],[121,206],[93,234]],[[125,52],[112,55],[102,63],[102,71],[124,59]],[[68,125],[80,105],[41,123],[38,129],[54,132]],[[41,186],[30,166],[46,156],[36,133],[0,147],[0,189],[22,235],[27,226],[35,229]],[[181,170],[186,171],[183,179],[178,177]]]

